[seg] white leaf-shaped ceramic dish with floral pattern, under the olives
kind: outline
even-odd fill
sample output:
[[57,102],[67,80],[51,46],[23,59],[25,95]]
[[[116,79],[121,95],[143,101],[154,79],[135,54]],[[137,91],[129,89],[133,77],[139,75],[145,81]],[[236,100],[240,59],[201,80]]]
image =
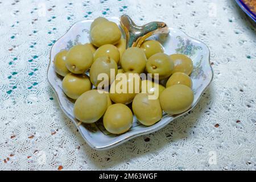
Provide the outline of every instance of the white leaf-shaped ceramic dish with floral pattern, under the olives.
[[[109,18],[109,20],[119,24],[118,18]],[[50,63],[47,72],[49,84],[56,93],[61,109],[75,123],[76,126],[79,121],[77,121],[73,115],[73,101],[65,96],[61,88],[62,77],[55,73],[53,59],[56,53],[58,53],[61,49],[69,49],[75,44],[84,44],[90,42],[89,30],[92,21],[93,20],[82,20],[73,24],[68,32],[55,42],[51,49]],[[193,39],[184,34],[184,32],[181,32],[175,28],[170,28],[170,34],[168,36],[159,35],[150,39],[156,39],[161,42],[165,49],[164,52],[168,55],[173,53],[183,53],[191,57],[194,65],[194,69],[191,74],[193,82],[192,89],[195,93],[195,100],[193,101],[191,107],[191,109],[193,109],[213,79],[213,70],[210,66],[210,52],[208,47],[199,40]],[[96,150],[107,150],[140,135],[150,134],[158,131],[175,118],[180,117],[185,113],[174,116],[164,114],[161,121],[150,127],[141,125],[134,117],[133,127],[127,133],[122,135],[109,134],[108,131],[104,129],[102,121],[97,121],[96,123],[89,125],[80,125],[77,126],[77,128],[90,147]]]

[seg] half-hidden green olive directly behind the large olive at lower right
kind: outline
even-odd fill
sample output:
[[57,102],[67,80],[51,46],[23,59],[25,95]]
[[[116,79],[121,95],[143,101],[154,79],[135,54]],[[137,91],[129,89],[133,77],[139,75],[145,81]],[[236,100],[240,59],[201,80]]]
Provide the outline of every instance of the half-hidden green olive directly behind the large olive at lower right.
[[177,84],[187,85],[189,88],[191,88],[192,80],[185,73],[176,72],[172,74],[172,76],[168,79],[168,81],[166,82],[166,87],[177,85]]

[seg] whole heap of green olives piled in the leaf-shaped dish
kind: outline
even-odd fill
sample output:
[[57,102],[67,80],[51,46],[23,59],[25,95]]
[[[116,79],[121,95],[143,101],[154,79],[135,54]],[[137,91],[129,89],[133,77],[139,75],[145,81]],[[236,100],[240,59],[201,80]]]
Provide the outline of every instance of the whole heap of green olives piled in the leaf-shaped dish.
[[[151,126],[161,120],[163,111],[174,115],[191,107],[194,96],[189,75],[193,64],[189,57],[166,55],[156,40],[146,40],[141,47],[126,49],[126,40],[121,38],[118,25],[102,17],[92,22],[90,39],[90,43],[60,51],[54,58],[56,73],[64,77],[63,92],[75,100],[73,112],[81,123],[94,123],[103,118],[106,130],[122,134],[130,129],[133,115],[143,125]],[[110,76],[110,69],[114,77]],[[97,80],[100,73],[109,76],[104,80],[109,92],[95,89],[102,81]],[[141,80],[141,73],[151,73],[151,79]],[[129,74],[133,74],[133,78],[129,77],[126,82],[118,79],[128,78]],[[136,78],[138,85],[131,80]],[[166,85],[159,84],[159,80]],[[118,93],[115,92],[117,85],[127,90],[133,86],[133,90]],[[148,96],[156,91],[159,96],[150,99]]]

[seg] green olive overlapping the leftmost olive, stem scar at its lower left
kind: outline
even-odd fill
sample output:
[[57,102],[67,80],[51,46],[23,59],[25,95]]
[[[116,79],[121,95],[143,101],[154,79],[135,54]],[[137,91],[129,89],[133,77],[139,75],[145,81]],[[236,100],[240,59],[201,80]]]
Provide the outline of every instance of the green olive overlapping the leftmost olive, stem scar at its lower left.
[[75,74],[85,73],[93,63],[93,54],[84,45],[76,45],[67,53],[66,67]]

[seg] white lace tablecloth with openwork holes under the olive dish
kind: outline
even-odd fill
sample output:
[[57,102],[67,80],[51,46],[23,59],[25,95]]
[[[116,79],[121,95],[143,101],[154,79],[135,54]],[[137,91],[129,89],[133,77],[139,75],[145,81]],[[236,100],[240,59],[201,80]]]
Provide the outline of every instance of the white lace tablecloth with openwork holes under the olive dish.
[[[211,51],[199,104],[164,129],[92,150],[50,88],[52,44],[78,20],[164,21]],[[0,169],[256,169],[255,23],[232,0],[0,0]]]

